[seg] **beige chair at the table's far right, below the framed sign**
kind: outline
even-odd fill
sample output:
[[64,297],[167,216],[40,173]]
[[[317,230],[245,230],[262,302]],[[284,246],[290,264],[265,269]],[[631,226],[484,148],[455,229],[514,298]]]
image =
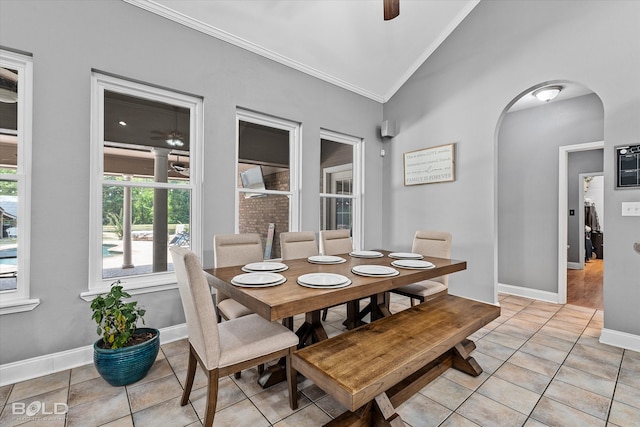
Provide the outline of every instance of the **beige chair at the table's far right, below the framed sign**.
[[[411,251],[424,256],[451,258],[451,233],[418,230]],[[392,292],[411,298],[411,305],[414,305],[414,299],[425,302],[447,293],[448,286],[448,276],[441,276],[401,286]]]

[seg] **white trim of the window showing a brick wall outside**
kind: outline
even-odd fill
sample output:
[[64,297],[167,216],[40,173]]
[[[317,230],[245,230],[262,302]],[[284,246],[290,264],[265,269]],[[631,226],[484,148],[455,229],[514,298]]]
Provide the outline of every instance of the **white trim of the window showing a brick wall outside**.
[[[240,151],[240,122],[249,122],[289,132],[289,191],[278,190],[245,190],[241,188],[238,177],[238,158]],[[235,232],[240,230],[240,195],[243,193],[275,194],[289,197],[289,231],[299,231],[300,227],[300,123],[278,117],[260,114],[238,108],[236,110],[236,194],[235,194]]]

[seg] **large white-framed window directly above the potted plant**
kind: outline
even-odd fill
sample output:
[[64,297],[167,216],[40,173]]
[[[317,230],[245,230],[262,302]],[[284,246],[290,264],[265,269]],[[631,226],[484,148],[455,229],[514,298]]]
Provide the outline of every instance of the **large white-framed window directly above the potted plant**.
[[201,253],[202,100],[94,73],[88,298],[115,280],[175,286],[169,247]]

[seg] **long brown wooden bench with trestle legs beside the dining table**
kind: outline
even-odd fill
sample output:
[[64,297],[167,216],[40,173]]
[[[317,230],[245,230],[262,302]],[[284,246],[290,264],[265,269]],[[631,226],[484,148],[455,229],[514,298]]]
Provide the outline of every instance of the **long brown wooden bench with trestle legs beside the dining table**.
[[395,408],[448,368],[482,373],[467,337],[499,315],[444,295],[302,348],[291,363],[349,409],[328,426],[403,426]]

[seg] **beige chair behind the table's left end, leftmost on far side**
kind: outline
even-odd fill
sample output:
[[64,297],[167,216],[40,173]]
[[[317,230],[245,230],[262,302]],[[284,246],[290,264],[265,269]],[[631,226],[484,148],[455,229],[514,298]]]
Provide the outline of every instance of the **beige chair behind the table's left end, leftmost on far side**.
[[[262,240],[258,233],[217,234],[213,236],[213,263],[216,268],[245,265],[263,260]],[[252,314],[244,305],[216,291],[218,314],[225,320]]]

